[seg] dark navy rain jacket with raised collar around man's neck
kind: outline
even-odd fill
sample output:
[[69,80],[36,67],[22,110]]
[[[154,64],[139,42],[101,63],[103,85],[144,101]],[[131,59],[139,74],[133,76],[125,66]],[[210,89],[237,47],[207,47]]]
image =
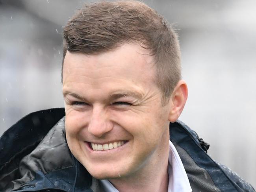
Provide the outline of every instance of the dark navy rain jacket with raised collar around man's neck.
[[[69,151],[63,116],[63,108],[37,111],[2,135],[0,191],[93,191],[95,179]],[[255,192],[235,172],[213,161],[209,145],[184,123],[170,124],[170,140],[193,192]]]

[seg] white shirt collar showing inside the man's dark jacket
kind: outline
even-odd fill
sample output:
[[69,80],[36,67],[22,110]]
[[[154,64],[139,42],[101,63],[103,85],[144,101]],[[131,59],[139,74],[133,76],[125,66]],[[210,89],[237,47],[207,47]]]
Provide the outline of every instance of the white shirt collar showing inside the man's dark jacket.
[[[185,168],[173,143],[169,142],[168,192],[191,192]],[[108,179],[99,180],[104,192],[119,192]]]

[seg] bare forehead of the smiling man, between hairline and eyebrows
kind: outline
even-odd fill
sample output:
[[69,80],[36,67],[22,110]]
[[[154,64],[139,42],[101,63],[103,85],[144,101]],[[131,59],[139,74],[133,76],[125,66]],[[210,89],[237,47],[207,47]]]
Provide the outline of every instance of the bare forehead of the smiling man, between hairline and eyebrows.
[[67,52],[63,63],[63,86],[72,81],[96,86],[111,79],[135,84],[152,83],[155,77],[153,61],[150,52],[138,44],[122,44],[98,55]]

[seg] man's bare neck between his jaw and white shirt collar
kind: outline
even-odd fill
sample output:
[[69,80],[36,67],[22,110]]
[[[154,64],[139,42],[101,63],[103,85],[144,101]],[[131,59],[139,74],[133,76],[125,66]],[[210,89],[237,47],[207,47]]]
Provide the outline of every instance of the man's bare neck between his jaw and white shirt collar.
[[[169,131],[169,130],[168,130]],[[169,134],[168,142],[161,145],[160,153],[141,170],[136,173],[118,179],[109,179],[109,181],[119,190],[119,192],[167,192],[168,190],[168,159],[169,159]],[[131,185],[132,183],[132,185]]]

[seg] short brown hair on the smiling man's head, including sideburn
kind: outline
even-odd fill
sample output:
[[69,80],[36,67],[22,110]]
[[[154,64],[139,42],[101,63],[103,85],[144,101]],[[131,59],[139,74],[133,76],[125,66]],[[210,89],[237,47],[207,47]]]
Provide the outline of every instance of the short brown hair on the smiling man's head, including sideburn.
[[142,2],[103,1],[78,9],[63,30],[63,61],[67,50],[96,55],[125,42],[137,42],[150,50],[156,83],[163,99],[168,99],[181,78],[178,37],[162,16]]

